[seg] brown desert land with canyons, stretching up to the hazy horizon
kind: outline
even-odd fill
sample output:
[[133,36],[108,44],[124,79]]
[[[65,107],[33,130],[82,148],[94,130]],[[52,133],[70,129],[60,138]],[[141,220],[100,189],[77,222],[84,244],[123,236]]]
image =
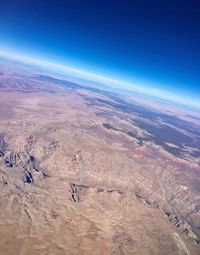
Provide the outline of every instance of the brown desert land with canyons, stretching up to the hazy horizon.
[[0,63],[0,254],[200,254],[198,112]]

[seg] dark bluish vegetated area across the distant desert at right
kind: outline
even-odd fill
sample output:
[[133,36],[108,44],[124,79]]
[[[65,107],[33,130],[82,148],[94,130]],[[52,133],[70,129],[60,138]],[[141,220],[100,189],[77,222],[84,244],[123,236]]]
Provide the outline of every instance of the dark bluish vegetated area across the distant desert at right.
[[[59,80],[44,75],[39,75],[37,79],[63,85],[70,89],[87,90],[96,94],[106,96],[106,99],[100,99],[80,94],[80,96],[82,96],[87,101],[87,105],[90,107],[107,105],[109,107],[112,107],[115,111],[128,113],[130,115],[132,114],[134,116],[140,116],[141,118],[133,120],[133,125],[137,125],[141,129],[147,131],[150,135],[147,135],[145,138],[141,138],[134,134],[131,130],[126,132],[121,129],[117,129],[108,123],[104,123],[103,126],[107,129],[124,132],[130,137],[138,139],[140,144],[142,144],[143,141],[153,141],[155,144],[162,146],[169,153],[178,157],[183,157],[185,153],[184,146],[196,149],[195,152],[191,153],[193,157],[200,156],[200,129],[197,125],[193,123],[184,121],[174,115],[159,113],[147,109],[146,107],[143,107],[141,105],[126,102],[118,94],[113,92],[88,86],[82,86],[73,82]],[[158,123],[159,125],[151,125],[149,123],[146,123],[145,120],[151,120],[152,122]],[[168,126],[167,124],[174,126],[174,128]],[[191,134],[191,136],[186,135],[181,131],[178,131],[176,128],[187,131]],[[178,148],[168,146],[166,143],[175,144]]]

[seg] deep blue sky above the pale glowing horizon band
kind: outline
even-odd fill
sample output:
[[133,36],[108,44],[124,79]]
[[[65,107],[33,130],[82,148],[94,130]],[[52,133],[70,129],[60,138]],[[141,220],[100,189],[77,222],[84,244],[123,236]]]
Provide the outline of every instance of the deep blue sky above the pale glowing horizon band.
[[200,2],[0,0],[0,43],[200,94]]

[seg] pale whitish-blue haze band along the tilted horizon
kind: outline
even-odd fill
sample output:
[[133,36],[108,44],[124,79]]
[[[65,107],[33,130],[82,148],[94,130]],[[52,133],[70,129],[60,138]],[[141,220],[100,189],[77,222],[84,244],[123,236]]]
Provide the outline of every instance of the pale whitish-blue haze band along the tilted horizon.
[[[156,87],[145,87],[144,85],[141,84],[134,84],[133,82],[126,82],[126,81],[121,81],[121,80],[115,80],[110,77],[104,76],[104,75],[99,75],[94,72],[90,71],[85,71],[82,69],[77,69],[74,67],[69,67],[68,65],[65,64],[58,64],[56,62],[51,62],[47,59],[43,58],[36,58],[36,56],[30,56],[30,55],[24,55],[19,52],[15,52],[12,49],[4,48],[0,49],[0,57],[10,59],[10,60],[15,60],[23,63],[28,63],[30,65],[38,65],[41,66],[45,69],[51,69],[57,72],[60,72],[60,74],[63,75],[76,75],[75,77],[79,78],[85,78],[89,79],[90,81],[94,82],[99,82],[104,85],[107,85],[109,87],[114,87],[116,89],[126,89],[129,90],[130,92],[139,92],[142,94],[146,94],[149,96],[156,97],[158,99],[164,99],[167,101],[171,101],[174,103],[178,104],[183,104],[185,106],[190,106],[190,107],[195,107],[195,108],[200,108],[200,100],[196,101],[191,98],[182,98],[180,95],[176,95],[172,91],[166,91],[164,89],[156,88]],[[115,86],[114,86],[115,85]],[[117,87],[116,87],[117,86]]]

